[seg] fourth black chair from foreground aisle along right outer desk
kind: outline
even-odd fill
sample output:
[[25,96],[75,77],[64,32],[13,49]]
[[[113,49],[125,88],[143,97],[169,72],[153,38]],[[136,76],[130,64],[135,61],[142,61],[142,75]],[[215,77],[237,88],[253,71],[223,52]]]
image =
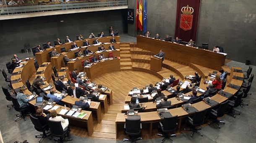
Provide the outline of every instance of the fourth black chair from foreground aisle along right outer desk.
[[219,123],[223,123],[225,124],[224,121],[218,120],[218,117],[222,117],[223,115],[225,115],[225,111],[227,110],[227,106],[228,106],[228,100],[220,103],[219,108],[215,109],[215,110],[210,110],[209,112],[209,117],[213,120],[211,123],[209,123],[209,125],[212,125],[214,123],[216,123],[220,129]]

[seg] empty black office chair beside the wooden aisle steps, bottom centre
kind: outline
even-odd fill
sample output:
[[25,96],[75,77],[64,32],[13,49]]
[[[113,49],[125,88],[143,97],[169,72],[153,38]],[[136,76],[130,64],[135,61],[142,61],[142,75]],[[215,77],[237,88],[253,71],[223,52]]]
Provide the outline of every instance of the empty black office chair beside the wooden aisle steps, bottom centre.
[[125,133],[128,134],[130,136],[130,139],[128,138],[124,138],[123,141],[128,140],[131,141],[131,143],[136,142],[136,140],[141,140],[142,137],[139,138],[135,138],[136,135],[140,135],[141,134],[141,120],[140,119],[128,119],[125,118]]

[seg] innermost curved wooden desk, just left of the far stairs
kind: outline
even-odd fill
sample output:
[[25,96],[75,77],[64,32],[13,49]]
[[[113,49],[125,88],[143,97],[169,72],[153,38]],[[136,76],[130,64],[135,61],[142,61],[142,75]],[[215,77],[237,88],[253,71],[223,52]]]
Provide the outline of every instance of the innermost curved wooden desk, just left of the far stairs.
[[112,71],[120,71],[120,59],[112,59],[107,61],[101,61],[94,63],[92,66],[85,66],[84,72],[86,76],[93,80],[94,78],[101,76]]

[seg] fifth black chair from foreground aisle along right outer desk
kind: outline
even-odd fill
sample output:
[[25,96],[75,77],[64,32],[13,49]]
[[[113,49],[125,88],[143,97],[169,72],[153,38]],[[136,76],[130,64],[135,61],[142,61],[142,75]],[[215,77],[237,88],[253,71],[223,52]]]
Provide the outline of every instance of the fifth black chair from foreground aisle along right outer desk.
[[228,100],[227,113],[230,113],[233,117],[235,117],[234,114],[240,115],[240,113],[235,111],[234,108],[240,105],[242,96],[243,96],[243,91],[240,91],[235,96],[233,96],[232,99]]

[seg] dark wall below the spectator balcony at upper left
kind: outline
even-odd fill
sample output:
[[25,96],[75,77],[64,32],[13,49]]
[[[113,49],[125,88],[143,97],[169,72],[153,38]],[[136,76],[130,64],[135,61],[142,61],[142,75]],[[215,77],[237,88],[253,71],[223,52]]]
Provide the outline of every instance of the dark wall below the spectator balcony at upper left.
[[[88,38],[89,33],[95,35],[104,31],[109,36],[109,27],[127,32],[127,10],[108,10],[101,12],[75,13],[65,15],[42,16],[35,18],[22,18],[0,21],[0,49],[1,55],[14,54],[24,48],[24,43],[30,46],[46,43],[60,38],[65,41],[65,36],[76,40],[82,34]],[[60,21],[64,22],[61,23]]]

